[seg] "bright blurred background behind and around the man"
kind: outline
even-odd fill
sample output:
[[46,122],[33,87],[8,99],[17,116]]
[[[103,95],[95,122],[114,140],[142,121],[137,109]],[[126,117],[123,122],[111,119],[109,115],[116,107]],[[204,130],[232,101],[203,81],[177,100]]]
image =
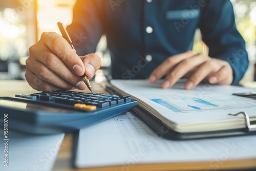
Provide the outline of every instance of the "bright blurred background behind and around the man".
[[[35,44],[44,31],[60,34],[57,22],[65,26],[72,22],[76,0],[2,0],[0,1],[0,81],[25,79],[28,48]],[[250,66],[240,82],[249,85],[256,81],[256,2],[231,0],[239,32],[247,43]],[[204,50],[200,30],[195,34],[194,50]],[[102,58],[102,67],[95,81],[103,79],[111,65],[106,39],[102,36],[96,52]]]

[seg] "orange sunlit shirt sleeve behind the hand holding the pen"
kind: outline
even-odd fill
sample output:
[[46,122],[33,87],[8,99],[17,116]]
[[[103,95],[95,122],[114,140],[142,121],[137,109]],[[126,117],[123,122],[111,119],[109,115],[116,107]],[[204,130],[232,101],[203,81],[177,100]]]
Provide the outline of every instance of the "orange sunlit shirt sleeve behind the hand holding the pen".
[[102,7],[101,1],[77,0],[73,9],[72,24],[67,27],[67,31],[78,55],[96,52],[103,34]]

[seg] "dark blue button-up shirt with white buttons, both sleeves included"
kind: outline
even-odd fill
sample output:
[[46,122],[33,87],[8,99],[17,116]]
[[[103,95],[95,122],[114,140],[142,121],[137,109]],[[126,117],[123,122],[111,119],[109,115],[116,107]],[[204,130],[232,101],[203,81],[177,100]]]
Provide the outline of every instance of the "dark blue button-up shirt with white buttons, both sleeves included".
[[106,35],[114,79],[144,79],[166,58],[191,50],[200,28],[209,56],[230,63],[233,82],[248,68],[245,41],[227,0],[77,0],[68,31],[79,55]]

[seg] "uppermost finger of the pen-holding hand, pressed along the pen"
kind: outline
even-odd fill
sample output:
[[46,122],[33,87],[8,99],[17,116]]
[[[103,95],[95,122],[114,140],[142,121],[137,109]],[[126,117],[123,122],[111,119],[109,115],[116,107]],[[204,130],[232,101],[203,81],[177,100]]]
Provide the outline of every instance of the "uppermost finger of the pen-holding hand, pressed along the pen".
[[82,60],[65,38],[54,32],[44,32],[41,35],[40,41],[58,56],[73,73],[77,76],[84,74],[85,68]]

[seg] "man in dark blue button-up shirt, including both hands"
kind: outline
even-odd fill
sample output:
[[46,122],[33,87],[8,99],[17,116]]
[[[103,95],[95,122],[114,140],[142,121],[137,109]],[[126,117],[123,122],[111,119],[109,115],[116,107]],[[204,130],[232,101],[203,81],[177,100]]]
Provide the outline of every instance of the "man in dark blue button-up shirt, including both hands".
[[[197,28],[209,56],[191,51]],[[238,83],[248,67],[245,41],[227,0],[77,0],[67,29],[78,55],[89,55],[78,57],[56,33],[42,34],[27,60],[26,78],[34,89],[84,89],[78,76],[99,69],[93,53],[102,34],[114,79],[156,82],[165,76],[162,87],[170,88],[187,77],[185,89],[193,89],[205,78],[212,84]]]

